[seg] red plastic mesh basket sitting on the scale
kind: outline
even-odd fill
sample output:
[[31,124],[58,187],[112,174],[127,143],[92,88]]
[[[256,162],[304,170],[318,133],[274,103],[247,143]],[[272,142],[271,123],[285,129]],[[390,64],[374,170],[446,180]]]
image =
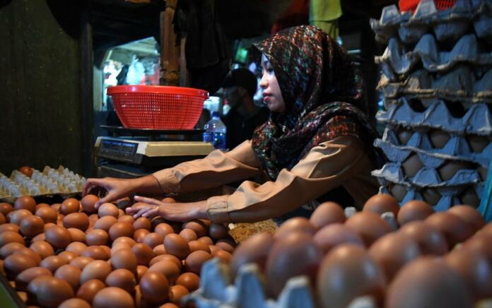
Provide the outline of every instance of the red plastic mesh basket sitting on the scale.
[[116,85],[107,95],[131,129],[193,129],[209,98],[205,90],[165,85]]

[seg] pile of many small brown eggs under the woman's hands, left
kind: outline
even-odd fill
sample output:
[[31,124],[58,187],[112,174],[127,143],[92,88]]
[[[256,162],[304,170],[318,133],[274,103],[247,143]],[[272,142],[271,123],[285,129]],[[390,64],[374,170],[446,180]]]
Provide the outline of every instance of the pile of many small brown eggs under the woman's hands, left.
[[205,261],[232,258],[235,242],[223,225],[134,219],[113,203],[95,209],[98,200],[48,205],[21,196],[13,206],[0,203],[0,269],[24,302],[177,307],[199,288]]

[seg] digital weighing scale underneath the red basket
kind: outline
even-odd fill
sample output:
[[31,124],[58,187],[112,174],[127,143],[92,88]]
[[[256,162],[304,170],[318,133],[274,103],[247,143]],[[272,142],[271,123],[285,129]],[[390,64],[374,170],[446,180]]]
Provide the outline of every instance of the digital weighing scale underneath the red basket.
[[112,136],[95,141],[98,177],[141,177],[180,162],[204,158],[211,143],[201,140],[204,129],[156,130],[101,126]]

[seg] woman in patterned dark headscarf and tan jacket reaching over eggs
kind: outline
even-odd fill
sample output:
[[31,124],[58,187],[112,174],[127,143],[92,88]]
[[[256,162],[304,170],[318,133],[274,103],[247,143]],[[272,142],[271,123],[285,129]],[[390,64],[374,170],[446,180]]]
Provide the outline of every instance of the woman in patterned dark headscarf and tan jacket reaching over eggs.
[[127,213],[230,223],[309,216],[315,199],[361,208],[377,193],[370,171],[378,166],[376,135],[362,111],[363,85],[353,62],[328,35],[308,25],[254,46],[262,52],[260,86],[271,114],[251,141],[139,179],[88,179],[84,194],[102,186],[108,191],[103,203],[137,191],[196,191],[265,174],[264,184],[245,181],[233,194],[205,201],[163,203],[136,196],[150,206]]

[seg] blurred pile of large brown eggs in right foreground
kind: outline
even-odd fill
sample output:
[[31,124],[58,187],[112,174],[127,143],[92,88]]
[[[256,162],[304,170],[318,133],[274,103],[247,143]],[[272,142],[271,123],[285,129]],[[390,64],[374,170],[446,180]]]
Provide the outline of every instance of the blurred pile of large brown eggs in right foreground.
[[[393,225],[382,218],[387,212]],[[375,307],[474,307],[492,299],[492,224],[472,206],[435,212],[410,201],[400,208],[385,194],[349,218],[328,202],[310,219],[291,218],[273,236],[242,242],[230,261],[233,276],[245,263],[259,265],[273,298],[287,280],[305,275],[320,307],[347,307],[361,297]]]

